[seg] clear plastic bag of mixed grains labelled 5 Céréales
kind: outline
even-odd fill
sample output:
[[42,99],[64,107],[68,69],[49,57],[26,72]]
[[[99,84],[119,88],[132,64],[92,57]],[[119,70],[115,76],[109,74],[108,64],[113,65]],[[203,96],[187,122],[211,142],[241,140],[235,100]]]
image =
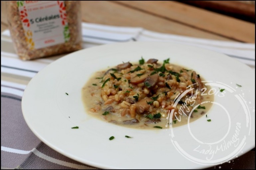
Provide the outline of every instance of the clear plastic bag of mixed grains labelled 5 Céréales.
[[80,1],[8,1],[15,50],[32,60],[82,48]]

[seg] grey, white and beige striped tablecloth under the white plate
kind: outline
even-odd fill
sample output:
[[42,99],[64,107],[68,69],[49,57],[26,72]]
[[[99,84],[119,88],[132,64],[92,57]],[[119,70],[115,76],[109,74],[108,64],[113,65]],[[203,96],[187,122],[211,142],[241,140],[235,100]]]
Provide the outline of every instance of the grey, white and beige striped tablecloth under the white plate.
[[[255,44],[192,38],[152,32],[139,27],[82,23],[83,47],[128,41],[167,41],[227,54],[255,69]],[[1,169],[97,169],[69,159],[41,142],[28,128],[21,98],[28,82],[60,56],[21,61],[9,30],[1,35]],[[143,168],[143,167],[138,167]],[[255,169],[255,151],[209,169]]]

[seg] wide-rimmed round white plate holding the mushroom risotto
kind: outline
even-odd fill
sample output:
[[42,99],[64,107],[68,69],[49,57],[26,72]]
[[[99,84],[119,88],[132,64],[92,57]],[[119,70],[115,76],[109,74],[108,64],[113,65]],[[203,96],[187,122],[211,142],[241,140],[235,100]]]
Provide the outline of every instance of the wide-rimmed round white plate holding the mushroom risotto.
[[[208,117],[192,122],[190,128],[137,130],[88,115],[81,88],[91,74],[122,61],[137,62],[141,56],[145,60],[170,58],[171,63],[192,68],[210,81],[218,93]],[[200,48],[160,42],[103,45],[71,53],[40,71],[24,92],[22,111],[30,129],[45,144],[91,166],[206,168],[255,147],[254,77],[245,64]],[[115,139],[109,141],[110,136]]]

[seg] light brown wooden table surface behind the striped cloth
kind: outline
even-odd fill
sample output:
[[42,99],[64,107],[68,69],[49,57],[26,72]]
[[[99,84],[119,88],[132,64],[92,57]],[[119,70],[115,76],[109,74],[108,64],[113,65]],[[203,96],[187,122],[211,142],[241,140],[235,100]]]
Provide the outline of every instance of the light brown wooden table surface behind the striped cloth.
[[[255,43],[255,24],[176,1],[81,1],[81,8],[85,22]],[[1,1],[1,31],[7,28],[5,9]]]

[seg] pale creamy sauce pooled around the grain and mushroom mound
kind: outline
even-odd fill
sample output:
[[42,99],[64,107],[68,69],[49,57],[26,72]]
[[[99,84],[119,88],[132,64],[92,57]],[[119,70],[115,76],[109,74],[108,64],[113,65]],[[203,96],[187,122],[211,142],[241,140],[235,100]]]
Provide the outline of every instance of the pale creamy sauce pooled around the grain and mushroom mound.
[[[176,66],[176,65],[175,65]],[[176,66],[177,68],[183,68],[180,66]],[[205,116],[208,112],[208,110],[211,108],[212,104],[211,102],[214,100],[214,95],[209,95],[209,86],[205,86],[204,88],[198,90],[201,93],[201,103],[205,102],[204,104],[200,104],[199,107],[201,106],[201,108],[197,108],[196,103],[193,104],[193,100],[198,97],[196,94],[196,90],[194,90],[194,93],[192,95],[188,95],[187,97],[183,98],[183,102],[190,101],[188,102],[188,106],[186,104],[182,104],[182,102],[179,104],[179,106],[176,108],[175,112],[177,112],[176,117],[173,116],[173,121],[171,119],[172,122],[170,122],[170,113],[171,110],[166,109],[167,106],[159,106],[158,108],[154,108],[154,111],[152,112],[152,115],[156,114],[156,113],[161,113],[161,118],[158,119],[149,119],[147,117],[145,117],[149,112],[142,113],[142,114],[137,114],[136,118],[139,120],[139,123],[136,124],[124,124],[123,121],[126,120],[131,120],[133,118],[131,118],[131,116],[129,114],[125,114],[124,116],[122,116],[119,110],[121,110],[121,106],[120,103],[117,101],[112,102],[110,105],[104,105],[104,100],[102,98],[102,83],[101,82],[102,79],[98,79],[104,76],[105,71],[98,71],[96,72],[94,75],[92,75],[92,77],[89,79],[89,81],[84,85],[84,87],[82,88],[82,101],[84,103],[84,107],[86,110],[86,113],[89,113],[90,115],[92,115],[95,118],[101,119],[105,122],[109,122],[109,123],[114,123],[116,125],[120,125],[120,126],[125,126],[125,127],[129,127],[129,128],[137,128],[137,129],[156,129],[154,128],[154,126],[160,126],[163,129],[165,128],[169,128],[169,125],[172,123],[173,127],[177,127],[177,126],[181,126],[181,125],[185,125],[188,123],[188,116],[186,115],[189,114],[189,112],[191,110],[195,110],[192,111],[192,116],[190,118],[190,122],[195,121],[196,119],[200,118],[201,116]],[[118,74],[116,74],[118,75]],[[123,83],[127,83],[128,85],[130,85],[127,81],[123,82]],[[137,88],[137,86],[133,86],[132,90],[135,90]],[[190,89],[190,88],[187,88]],[[186,90],[187,90],[186,89]],[[185,90],[184,90],[185,91]],[[180,93],[182,94],[182,92]],[[111,95],[110,95],[111,96]],[[110,97],[109,96],[109,97]],[[136,95],[135,95],[136,96]],[[190,97],[191,96],[191,97]],[[190,100],[189,100],[190,97]],[[208,102],[208,103],[207,103]],[[92,111],[92,108],[96,108],[98,106],[99,110],[94,109],[94,111]],[[109,107],[112,106],[115,109],[115,112],[109,112],[107,115],[103,115],[103,113],[105,112],[105,110]],[[183,107],[183,108],[182,108]],[[195,107],[193,109],[193,107]],[[205,109],[204,109],[205,107]],[[182,110],[187,110],[187,112],[183,112]],[[182,115],[180,116],[181,113]],[[177,120],[181,119],[181,120]],[[159,121],[159,119],[161,121]],[[155,121],[158,120],[157,122],[153,122],[153,123],[145,123],[146,121]]]

